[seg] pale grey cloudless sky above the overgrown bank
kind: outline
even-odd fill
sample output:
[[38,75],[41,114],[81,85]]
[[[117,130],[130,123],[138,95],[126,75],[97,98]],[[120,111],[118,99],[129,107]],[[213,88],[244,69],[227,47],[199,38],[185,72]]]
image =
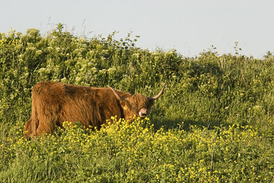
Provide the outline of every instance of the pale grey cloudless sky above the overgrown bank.
[[234,53],[234,42],[246,56],[274,52],[273,0],[2,0],[0,17],[0,32],[34,27],[45,35],[57,23],[88,37],[119,31],[119,39],[132,31],[142,49],[176,49],[183,56],[211,45]]

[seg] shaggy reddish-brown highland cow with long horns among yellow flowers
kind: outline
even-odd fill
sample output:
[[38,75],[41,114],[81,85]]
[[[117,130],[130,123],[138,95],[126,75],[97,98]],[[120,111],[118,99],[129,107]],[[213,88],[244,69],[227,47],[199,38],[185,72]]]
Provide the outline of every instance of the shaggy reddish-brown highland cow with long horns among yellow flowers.
[[130,95],[120,90],[38,82],[32,91],[32,116],[25,123],[25,137],[51,133],[64,121],[79,121],[85,127],[100,126],[112,116],[130,120],[134,115],[146,117],[155,97]]

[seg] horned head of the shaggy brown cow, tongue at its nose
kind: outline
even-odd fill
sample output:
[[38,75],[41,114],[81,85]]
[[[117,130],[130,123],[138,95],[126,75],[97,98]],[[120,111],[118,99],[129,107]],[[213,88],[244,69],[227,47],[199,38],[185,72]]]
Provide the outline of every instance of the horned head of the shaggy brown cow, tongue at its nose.
[[[165,86],[166,84],[164,84]],[[127,98],[121,97],[116,91],[112,89],[114,95],[116,98],[120,101],[121,107],[123,108],[123,113],[125,119],[132,119],[134,115],[136,117],[145,118],[147,117],[147,114],[149,114],[149,109],[151,106],[153,106],[153,102],[155,99],[158,99],[162,93],[164,93],[164,86],[162,87],[162,90],[160,90],[160,93],[154,97],[145,97],[141,94],[134,94]]]

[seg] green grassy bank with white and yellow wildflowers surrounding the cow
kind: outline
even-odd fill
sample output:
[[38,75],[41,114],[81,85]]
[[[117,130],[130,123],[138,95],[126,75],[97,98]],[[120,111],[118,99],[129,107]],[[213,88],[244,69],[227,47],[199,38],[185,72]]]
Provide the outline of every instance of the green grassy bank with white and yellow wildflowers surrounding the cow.
[[[176,50],[79,38],[62,24],[47,36],[0,34],[0,182],[271,182],[274,178],[274,56],[214,47]],[[32,87],[42,80],[164,95],[149,119],[117,119],[100,131],[64,123],[27,141]]]

